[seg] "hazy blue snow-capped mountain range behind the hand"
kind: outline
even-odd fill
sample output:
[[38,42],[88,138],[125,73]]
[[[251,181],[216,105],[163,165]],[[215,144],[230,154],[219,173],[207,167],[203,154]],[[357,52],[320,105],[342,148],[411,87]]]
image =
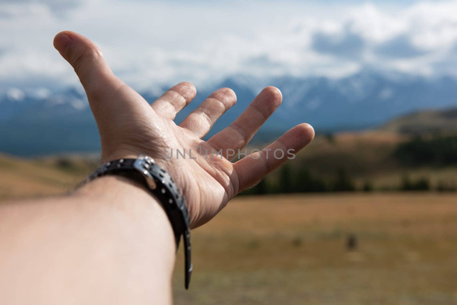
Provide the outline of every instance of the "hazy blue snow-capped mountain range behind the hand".
[[[283,102],[260,129],[258,141],[277,137],[302,122],[310,123],[317,132],[357,130],[417,110],[457,106],[457,80],[452,77],[389,75],[370,70],[341,79],[237,75],[198,91],[176,121],[182,121],[215,89],[232,88],[237,104],[215,124],[213,134],[230,124],[267,85],[281,89]],[[140,94],[152,102],[166,89]],[[81,88],[0,88],[1,152],[32,156],[99,149],[96,123]]]

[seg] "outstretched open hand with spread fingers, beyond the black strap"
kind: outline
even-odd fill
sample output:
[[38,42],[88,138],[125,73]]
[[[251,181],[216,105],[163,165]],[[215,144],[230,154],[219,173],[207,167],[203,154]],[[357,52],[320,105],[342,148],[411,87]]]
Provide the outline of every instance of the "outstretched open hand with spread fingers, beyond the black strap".
[[[192,84],[177,84],[149,105],[112,73],[101,51],[89,39],[74,32],[60,32],[54,38],[54,47],[73,66],[84,86],[100,132],[102,162],[136,158],[140,153],[154,158],[175,179],[185,196],[191,227],[209,221],[235,195],[284,163],[289,149],[296,153],[314,137],[310,125],[300,124],[266,150],[231,163],[227,159],[232,152],[229,149],[238,152],[246,146],[281,104],[279,89],[263,89],[230,126],[205,142],[202,137],[236,102],[231,89],[213,92],[178,126],[173,121],[176,113],[196,95]],[[201,147],[202,155],[196,147]],[[177,149],[181,153],[185,150],[185,159],[181,156],[176,159]],[[211,158],[212,151],[221,149],[223,158]],[[276,149],[284,152],[282,158],[272,156]],[[173,158],[165,158],[164,150],[168,157],[172,150]],[[189,158],[190,150],[196,159]],[[210,156],[206,157],[205,151]]]

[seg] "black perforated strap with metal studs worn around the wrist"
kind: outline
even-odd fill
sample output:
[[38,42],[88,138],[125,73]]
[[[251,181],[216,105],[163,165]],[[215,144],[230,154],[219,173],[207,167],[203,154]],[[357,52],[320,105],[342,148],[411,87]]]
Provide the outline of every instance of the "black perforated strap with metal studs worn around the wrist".
[[176,251],[181,235],[183,236],[185,286],[188,289],[192,273],[189,210],[186,206],[186,200],[178,190],[173,178],[152,158],[140,155],[137,159],[119,159],[102,164],[85,179],[84,183],[108,174],[121,175],[143,184],[162,205],[173,227]]

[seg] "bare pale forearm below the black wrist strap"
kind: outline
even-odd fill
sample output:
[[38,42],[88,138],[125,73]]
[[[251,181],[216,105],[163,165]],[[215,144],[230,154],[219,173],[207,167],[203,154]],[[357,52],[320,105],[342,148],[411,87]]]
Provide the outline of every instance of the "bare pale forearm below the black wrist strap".
[[0,206],[2,304],[168,304],[175,244],[144,189],[104,177]]

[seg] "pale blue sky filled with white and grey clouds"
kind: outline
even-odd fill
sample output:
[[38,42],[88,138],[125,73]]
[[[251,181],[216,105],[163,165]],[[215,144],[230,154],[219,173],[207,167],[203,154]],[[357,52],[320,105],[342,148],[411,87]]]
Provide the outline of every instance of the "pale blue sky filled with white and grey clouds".
[[0,85],[75,84],[62,30],[138,89],[228,75],[457,75],[457,1],[0,0]]

